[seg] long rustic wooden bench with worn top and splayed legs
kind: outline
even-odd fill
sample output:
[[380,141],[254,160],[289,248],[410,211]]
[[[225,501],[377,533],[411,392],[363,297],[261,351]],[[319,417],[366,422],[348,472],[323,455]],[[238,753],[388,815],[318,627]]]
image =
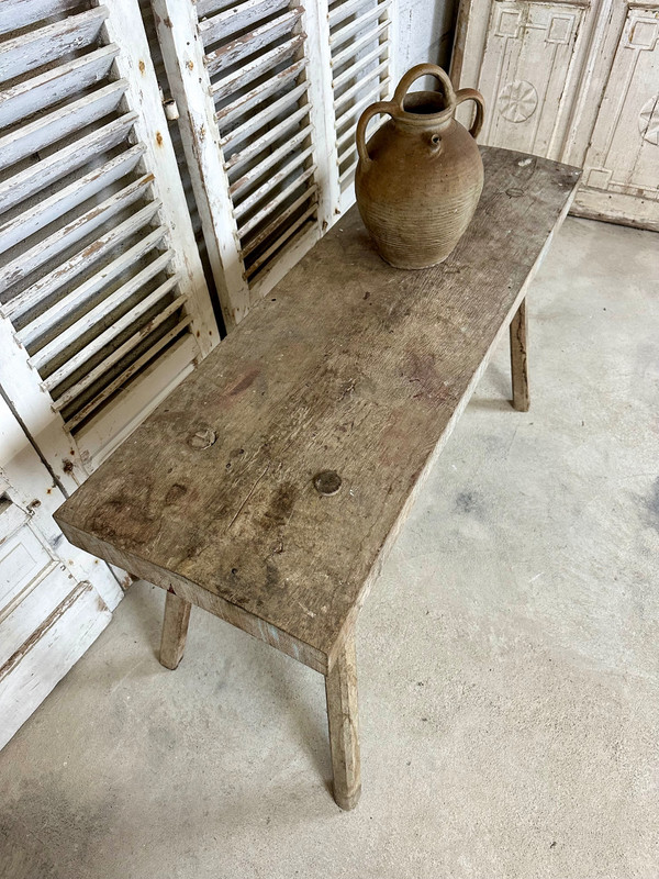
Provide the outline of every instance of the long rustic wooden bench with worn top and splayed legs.
[[361,787],[359,610],[509,325],[513,405],[528,409],[524,298],[580,176],[482,154],[481,202],[446,263],[391,268],[350,210],[55,516],[167,590],[167,668],[197,604],[325,676],[343,809]]

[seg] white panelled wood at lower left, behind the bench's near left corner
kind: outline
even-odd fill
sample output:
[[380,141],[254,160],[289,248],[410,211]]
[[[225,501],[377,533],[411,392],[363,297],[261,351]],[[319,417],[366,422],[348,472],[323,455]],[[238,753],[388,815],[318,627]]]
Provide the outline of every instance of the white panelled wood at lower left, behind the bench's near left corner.
[[[72,547],[56,526],[52,514],[64,499],[0,396],[0,747],[122,597],[108,566]],[[85,582],[92,578],[93,587]],[[92,600],[78,602],[82,594]]]

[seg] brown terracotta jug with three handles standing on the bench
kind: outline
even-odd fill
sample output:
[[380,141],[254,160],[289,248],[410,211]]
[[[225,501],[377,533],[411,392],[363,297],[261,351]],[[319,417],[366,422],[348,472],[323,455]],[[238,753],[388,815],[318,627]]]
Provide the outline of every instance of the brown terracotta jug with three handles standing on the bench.
[[[436,77],[443,92],[407,89],[422,76]],[[467,131],[456,107],[476,101]],[[440,67],[420,64],[398,85],[391,101],[368,107],[357,124],[357,204],[380,255],[399,268],[444,262],[469,225],[483,188],[476,136],[484,102],[474,89],[454,91]],[[366,144],[366,126],[378,113],[391,119]]]

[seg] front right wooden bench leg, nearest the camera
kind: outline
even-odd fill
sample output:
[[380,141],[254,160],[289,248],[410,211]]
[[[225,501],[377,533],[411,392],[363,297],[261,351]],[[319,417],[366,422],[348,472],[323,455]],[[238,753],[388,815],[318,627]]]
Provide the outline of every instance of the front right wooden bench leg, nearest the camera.
[[342,809],[354,809],[361,793],[354,632],[346,638],[325,678],[325,694],[334,772],[334,799]]

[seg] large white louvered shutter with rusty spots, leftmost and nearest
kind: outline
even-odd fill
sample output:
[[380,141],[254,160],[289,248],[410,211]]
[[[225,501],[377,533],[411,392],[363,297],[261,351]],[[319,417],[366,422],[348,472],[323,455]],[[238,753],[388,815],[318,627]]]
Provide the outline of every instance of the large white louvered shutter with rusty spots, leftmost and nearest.
[[0,379],[66,485],[219,335],[137,0],[4,0],[0,41]]

